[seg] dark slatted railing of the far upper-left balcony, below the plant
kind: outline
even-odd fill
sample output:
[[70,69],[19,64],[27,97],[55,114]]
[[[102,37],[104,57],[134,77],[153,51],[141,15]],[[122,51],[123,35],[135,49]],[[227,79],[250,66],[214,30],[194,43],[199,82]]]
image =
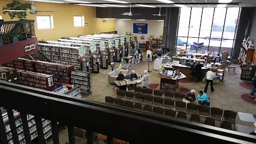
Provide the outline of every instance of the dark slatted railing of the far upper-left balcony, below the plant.
[[34,20],[0,21],[0,44],[35,37]]

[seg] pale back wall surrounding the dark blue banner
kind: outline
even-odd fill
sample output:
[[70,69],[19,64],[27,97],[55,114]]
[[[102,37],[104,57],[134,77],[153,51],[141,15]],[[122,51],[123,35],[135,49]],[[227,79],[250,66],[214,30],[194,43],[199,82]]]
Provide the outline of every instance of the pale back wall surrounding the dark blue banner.
[[[156,20],[115,20],[115,29],[117,34],[125,35],[126,32],[133,33],[133,23],[148,23],[148,33],[147,34],[135,34],[137,35],[137,40],[139,42],[145,42],[150,37],[150,35],[154,35],[154,38],[160,38],[163,35],[163,21]],[[145,40],[141,40],[141,35],[144,35]]]

